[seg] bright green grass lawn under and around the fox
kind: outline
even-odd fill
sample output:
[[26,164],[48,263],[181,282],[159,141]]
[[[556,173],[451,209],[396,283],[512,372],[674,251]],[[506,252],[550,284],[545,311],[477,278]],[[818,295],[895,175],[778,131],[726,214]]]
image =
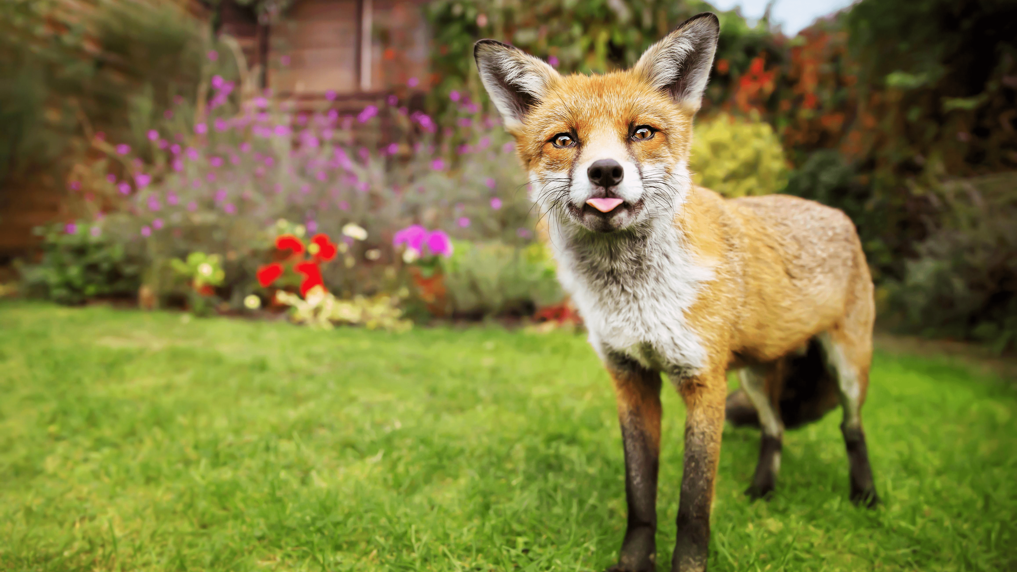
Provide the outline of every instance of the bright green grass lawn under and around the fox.
[[[665,386],[660,569],[683,410]],[[878,353],[875,511],[839,413],[725,428],[711,570],[1017,568],[1017,389]],[[601,570],[625,518],[613,395],[582,336],[387,334],[0,305],[0,570]]]

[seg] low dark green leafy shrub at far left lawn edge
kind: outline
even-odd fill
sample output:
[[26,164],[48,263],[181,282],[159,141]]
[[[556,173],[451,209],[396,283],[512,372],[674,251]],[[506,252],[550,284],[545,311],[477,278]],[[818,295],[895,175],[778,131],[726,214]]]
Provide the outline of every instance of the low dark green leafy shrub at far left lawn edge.
[[43,258],[23,267],[29,296],[65,304],[100,296],[133,296],[141,282],[138,243],[113,239],[99,226],[53,225],[43,234]]

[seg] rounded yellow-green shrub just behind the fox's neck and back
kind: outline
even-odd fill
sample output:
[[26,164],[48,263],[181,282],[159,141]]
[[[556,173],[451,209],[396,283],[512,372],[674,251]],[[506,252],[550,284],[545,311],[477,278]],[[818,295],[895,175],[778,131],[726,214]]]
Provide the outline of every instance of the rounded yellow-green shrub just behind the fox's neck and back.
[[787,184],[787,160],[773,127],[726,113],[696,125],[689,166],[696,184],[724,196],[769,194]]

